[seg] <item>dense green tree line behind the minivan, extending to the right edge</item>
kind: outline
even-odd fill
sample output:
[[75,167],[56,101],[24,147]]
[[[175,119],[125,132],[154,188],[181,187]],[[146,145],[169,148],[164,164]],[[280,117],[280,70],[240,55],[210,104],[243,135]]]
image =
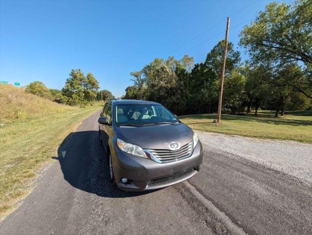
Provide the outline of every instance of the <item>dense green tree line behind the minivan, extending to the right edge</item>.
[[[223,113],[254,110],[311,108],[312,99],[312,0],[291,4],[269,3],[240,33],[239,45],[229,42]],[[224,50],[221,40],[205,62],[194,64],[193,57],[181,60],[156,58],[140,71],[131,72],[133,86],[125,89],[126,99],[148,99],[164,104],[175,114],[217,111],[219,82]]]

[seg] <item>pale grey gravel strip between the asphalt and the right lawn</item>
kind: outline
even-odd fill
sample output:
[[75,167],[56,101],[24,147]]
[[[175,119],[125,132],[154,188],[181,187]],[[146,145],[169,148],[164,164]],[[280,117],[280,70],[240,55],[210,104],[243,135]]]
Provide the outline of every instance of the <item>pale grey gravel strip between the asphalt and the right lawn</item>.
[[195,132],[208,151],[252,161],[312,184],[312,144]]

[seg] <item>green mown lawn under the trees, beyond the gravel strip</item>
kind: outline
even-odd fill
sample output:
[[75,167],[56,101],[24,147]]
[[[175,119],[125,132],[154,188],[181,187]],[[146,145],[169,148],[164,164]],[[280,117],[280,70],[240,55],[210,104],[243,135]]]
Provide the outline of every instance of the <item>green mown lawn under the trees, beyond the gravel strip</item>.
[[195,130],[312,143],[312,111],[286,112],[280,118],[274,118],[274,113],[260,111],[258,117],[253,114],[222,115],[221,124],[213,123],[216,114],[186,115],[179,118]]

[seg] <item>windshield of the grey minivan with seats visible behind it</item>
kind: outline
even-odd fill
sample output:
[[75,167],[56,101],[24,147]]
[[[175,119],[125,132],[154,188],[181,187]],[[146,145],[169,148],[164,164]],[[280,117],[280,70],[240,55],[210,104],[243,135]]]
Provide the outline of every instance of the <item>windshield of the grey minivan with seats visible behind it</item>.
[[122,104],[116,106],[117,125],[178,124],[180,121],[164,106],[154,104]]

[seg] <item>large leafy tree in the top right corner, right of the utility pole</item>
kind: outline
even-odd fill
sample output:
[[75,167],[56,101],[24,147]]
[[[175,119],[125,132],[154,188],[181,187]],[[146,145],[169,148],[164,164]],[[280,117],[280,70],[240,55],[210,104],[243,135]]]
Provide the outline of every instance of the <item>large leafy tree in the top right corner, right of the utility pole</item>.
[[309,98],[312,98],[311,15],[311,0],[296,0],[291,5],[271,2],[240,33],[240,45],[249,52],[254,65],[280,70],[287,64],[299,64],[305,76],[300,82],[289,77],[284,84]]

